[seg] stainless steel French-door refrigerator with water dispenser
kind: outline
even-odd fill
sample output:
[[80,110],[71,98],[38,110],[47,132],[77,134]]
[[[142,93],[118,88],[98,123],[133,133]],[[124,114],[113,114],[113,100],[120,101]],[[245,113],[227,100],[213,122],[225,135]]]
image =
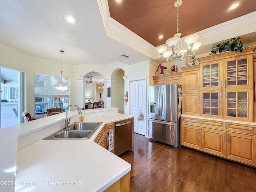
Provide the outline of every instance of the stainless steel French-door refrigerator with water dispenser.
[[177,148],[180,145],[181,86],[149,86],[148,96],[149,138]]

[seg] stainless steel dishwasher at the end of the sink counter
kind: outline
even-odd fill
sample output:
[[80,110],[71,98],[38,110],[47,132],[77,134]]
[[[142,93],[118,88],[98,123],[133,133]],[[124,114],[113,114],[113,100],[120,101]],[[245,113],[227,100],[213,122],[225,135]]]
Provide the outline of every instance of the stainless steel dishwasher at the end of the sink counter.
[[133,150],[133,118],[114,122],[114,154]]

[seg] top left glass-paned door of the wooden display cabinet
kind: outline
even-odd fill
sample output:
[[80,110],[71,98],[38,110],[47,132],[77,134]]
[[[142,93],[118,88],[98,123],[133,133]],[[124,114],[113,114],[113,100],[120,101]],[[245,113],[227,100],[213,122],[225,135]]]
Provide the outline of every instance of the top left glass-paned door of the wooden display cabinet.
[[222,60],[200,64],[201,90],[221,89],[222,87]]

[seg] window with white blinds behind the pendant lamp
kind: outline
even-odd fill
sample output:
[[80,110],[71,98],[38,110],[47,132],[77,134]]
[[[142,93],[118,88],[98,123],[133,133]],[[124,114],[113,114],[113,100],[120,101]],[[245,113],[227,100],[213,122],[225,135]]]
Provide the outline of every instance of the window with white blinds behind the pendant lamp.
[[[69,104],[69,89],[60,91],[54,88],[58,76],[35,74],[35,114],[46,113],[48,108],[62,108]],[[66,78],[69,84],[69,78]]]

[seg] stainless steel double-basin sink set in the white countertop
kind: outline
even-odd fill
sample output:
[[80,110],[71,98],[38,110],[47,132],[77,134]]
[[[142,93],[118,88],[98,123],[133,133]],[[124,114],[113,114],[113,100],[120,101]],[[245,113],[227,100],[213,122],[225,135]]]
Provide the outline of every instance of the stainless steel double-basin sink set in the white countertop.
[[68,128],[59,130],[45,138],[46,139],[89,139],[102,122],[75,122]]

